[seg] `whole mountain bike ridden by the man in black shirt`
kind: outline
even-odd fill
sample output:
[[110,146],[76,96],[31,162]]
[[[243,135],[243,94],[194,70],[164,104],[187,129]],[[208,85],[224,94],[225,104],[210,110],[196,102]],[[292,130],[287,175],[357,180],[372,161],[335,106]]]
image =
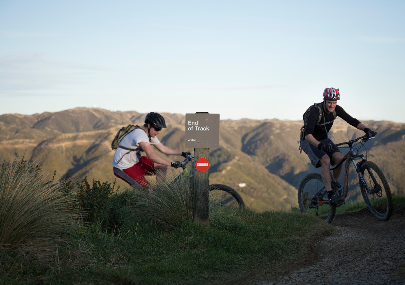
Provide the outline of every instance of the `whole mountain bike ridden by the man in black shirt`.
[[[336,208],[345,203],[348,191],[349,167],[353,165],[358,175],[361,195],[371,214],[380,221],[390,219],[393,202],[387,179],[375,163],[367,161],[366,148],[364,148],[365,156],[359,153],[360,148],[364,147],[363,142],[369,139],[371,138],[364,135],[335,146],[335,150],[339,150],[338,146],[347,145],[345,148],[349,148],[349,151],[336,165],[329,167],[331,187],[334,191],[333,195],[336,195],[332,196],[333,199],[330,199],[329,192],[326,193],[324,179],[319,173],[309,173],[301,180],[298,186],[298,205],[301,213],[309,213],[319,216],[325,222],[332,222],[336,214]],[[341,155],[339,154],[339,156]],[[340,172],[343,162],[345,162],[345,182],[342,194],[342,186],[336,182],[333,171],[335,170],[335,174],[337,174],[337,171]]]

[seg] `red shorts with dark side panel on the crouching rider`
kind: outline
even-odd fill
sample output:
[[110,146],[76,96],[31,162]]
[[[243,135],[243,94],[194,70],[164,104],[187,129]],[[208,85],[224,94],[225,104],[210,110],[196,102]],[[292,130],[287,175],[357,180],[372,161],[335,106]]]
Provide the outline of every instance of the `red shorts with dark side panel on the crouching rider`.
[[[145,175],[156,174],[156,168],[153,167],[154,164],[155,163],[146,156],[141,156],[138,163],[134,164],[132,167],[122,169],[122,171],[130,178],[134,179],[139,185],[148,187],[150,183],[146,180]],[[130,181],[127,181],[116,173],[114,173],[114,175],[132,185]]]

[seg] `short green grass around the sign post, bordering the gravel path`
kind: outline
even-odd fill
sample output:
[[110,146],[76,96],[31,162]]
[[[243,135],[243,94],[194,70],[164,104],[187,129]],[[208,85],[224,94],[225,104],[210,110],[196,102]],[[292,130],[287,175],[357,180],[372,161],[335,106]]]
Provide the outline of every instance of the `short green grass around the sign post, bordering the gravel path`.
[[208,227],[183,222],[167,230],[128,221],[115,234],[96,226],[83,230],[86,262],[95,260],[97,266],[76,265],[55,274],[32,268],[31,282],[221,284],[299,260],[309,242],[333,227],[309,215],[247,209],[223,211]]

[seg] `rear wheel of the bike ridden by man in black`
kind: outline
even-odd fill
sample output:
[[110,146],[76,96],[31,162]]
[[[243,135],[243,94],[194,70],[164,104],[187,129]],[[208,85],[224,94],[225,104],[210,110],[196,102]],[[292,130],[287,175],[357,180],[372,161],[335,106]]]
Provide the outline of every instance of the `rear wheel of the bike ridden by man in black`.
[[[320,189],[322,190],[318,193]],[[317,193],[318,195],[315,196]],[[298,186],[298,205],[301,213],[315,215],[328,223],[331,223],[335,217],[336,207],[329,204],[322,176],[318,173],[308,174],[301,180]]]

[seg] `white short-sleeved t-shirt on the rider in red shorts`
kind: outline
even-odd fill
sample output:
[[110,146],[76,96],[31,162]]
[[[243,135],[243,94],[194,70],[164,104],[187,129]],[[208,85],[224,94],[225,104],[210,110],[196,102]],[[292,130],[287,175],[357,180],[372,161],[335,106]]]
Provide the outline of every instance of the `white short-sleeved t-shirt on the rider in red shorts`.
[[[145,131],[143,131],[143,129],[134,129],[121,140],[119,145],[126,148],[135,149],[139,147],[140,142],[147,142],[151,146],[155,146],[160,143],[157,137],[151,137],[151,141],[149,141],[149,137]],[[143,150],[130,152],[124,148],[117,148],[114,153],[112,164],[113,167],[117,167],[118,169],[127,169],[132,167],[134,164],[139,162],[139,158],[141,158],[141,151]]]

